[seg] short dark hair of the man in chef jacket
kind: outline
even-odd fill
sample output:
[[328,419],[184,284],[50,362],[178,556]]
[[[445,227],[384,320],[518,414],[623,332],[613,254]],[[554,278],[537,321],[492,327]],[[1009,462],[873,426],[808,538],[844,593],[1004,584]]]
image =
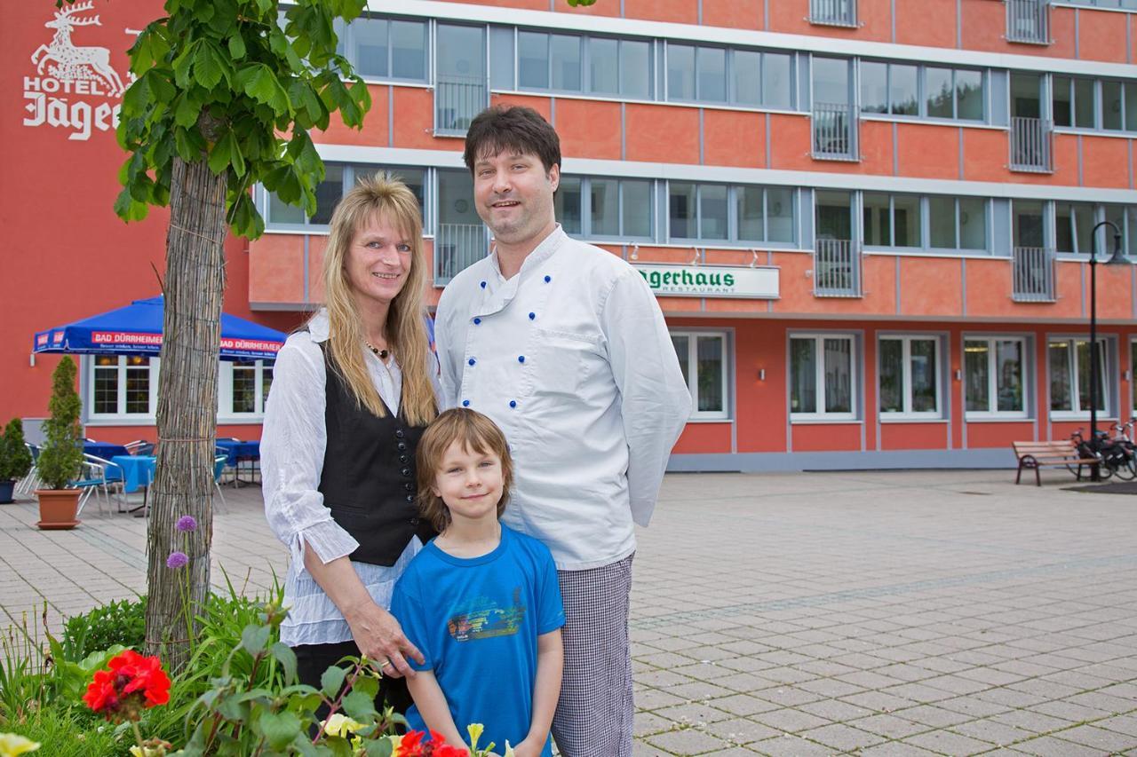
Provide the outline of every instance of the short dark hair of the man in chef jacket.
[[470,173],[479,158],[505,150],[536,155],[549,173],[561,166],[561,138],[549,122],[524,106],[493,106],[478,114],[466,132],[466,150],[462,158]]

